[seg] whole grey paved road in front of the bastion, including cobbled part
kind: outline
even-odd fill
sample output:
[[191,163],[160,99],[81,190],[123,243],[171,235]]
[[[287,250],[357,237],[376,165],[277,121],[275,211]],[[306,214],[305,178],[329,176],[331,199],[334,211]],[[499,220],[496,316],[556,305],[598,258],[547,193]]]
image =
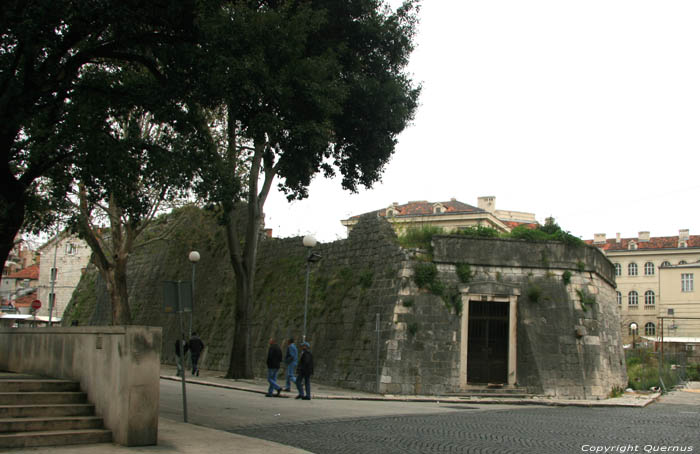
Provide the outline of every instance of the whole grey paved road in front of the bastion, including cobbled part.
[[[161,381],[161,415],[181,415]],[[314,453],[700,452],[700,394],[646,408],[580,408],[265,398],[190,385],[190,422]]]

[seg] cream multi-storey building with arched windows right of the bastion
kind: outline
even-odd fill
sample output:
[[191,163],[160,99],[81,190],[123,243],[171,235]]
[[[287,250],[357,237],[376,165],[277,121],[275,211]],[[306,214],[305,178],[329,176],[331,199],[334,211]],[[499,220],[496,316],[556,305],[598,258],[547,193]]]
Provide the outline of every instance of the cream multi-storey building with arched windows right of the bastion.
[[[668,237],[639,232],[637,238],[621,238],[618,234],[608,239],[605,234],[595,234],[588,243],[600,248],[615,266],[617,304],[626,344],[660,337],[661,317],[669,316],[669,309],[677,317],[676,307],[683,314],[700,317],[700,293],[681,292],[680,280],[682,274],[697,274],[683,270],[700,271],[700,235],[690,235],[687,229]],[[671,328],[672,323],[664,324],[665,337],[680,335]],[[686,324],[686,329],[687,336],[700,336],[700,323]]]

